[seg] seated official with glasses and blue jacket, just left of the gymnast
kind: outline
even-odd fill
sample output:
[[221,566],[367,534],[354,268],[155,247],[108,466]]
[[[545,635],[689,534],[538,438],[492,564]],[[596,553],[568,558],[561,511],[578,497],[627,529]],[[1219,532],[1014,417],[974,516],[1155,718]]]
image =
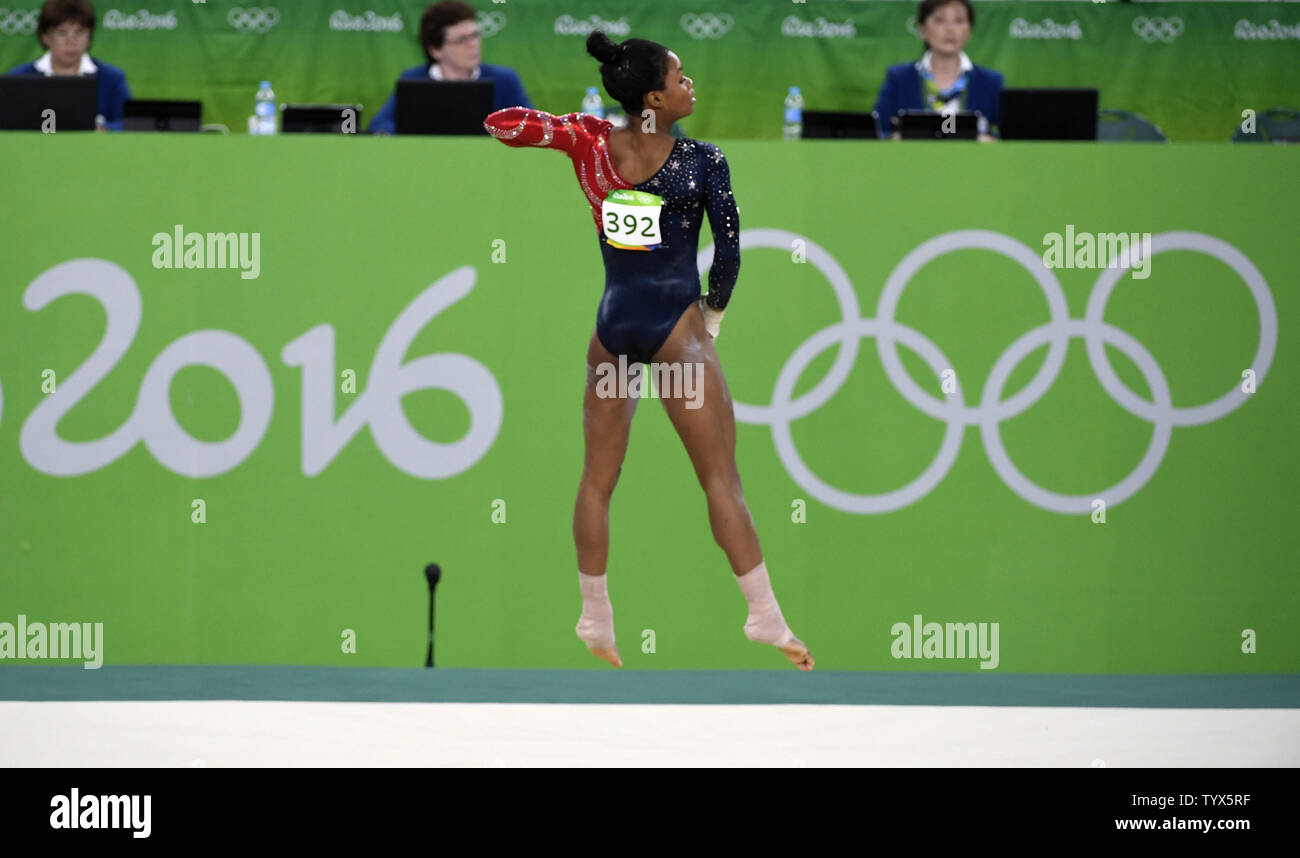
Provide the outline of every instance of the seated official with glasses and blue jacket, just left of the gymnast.
[[[532,108],[524,84],[514,69],[480,62],[482,30],[474,20],[473,6],[460,0],[443,0],[420,16],[420,44],[429,62],[407,69],[403,81],[491,81],[493,110],[508,107]],[[372,134],[393,134],[396,126],[396,92],[389,96],[367,127]]]

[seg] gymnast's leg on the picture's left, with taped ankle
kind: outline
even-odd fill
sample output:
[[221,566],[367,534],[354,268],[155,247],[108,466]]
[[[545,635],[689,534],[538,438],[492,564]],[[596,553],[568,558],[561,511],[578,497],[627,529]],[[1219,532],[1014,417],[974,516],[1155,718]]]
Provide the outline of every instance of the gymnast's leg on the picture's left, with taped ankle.
[[[582,480],[573,504],[573,543],[577,547],[578,582],[582,588],[582,616],[577,636],[592,654],[615,667],[623,667],[614,640],[614,608],[606,589],[604,566],[610,555],[610,498],[619,481],[623,456],[628,451],[636,396],[601,396],[597,381],[606,373],[616,380],[619,359],[601,344],[593,333],[586,348],[586,391],[582,395]],[[616,381],[615,381],[616,384]],[[608,389],[602,385],[602,391]],[[627,390],[627,382],[614,386]]]

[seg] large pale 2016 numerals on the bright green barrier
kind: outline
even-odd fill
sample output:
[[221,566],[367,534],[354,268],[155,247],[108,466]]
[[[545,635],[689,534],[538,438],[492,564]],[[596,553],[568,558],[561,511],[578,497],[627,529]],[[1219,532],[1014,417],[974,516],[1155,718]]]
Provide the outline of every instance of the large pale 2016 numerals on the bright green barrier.
[[[303,474],[315,476],[361,430],[394,467],[425,480],[451,477],[488,452],[500,430],[503,403],[491,372],[467,355],[424,355],[403,363],[420,333],[443,309],[469,294],[474,270],[458,268],[416,295],[384,334],[370,363],[365,393],[334,419],[334,329],[317,325],[285,346],[281,359],[303,368]],[[58,421],[122,359],[140,328],[140,291],[120,266],[100,259],[55,265],[27,286],[23,306],[39,311],[64,295],[88,295],[108,316],[104,338],[56,393],[22,425],[18,446],[27,463],[43,473],[70,477],[98,471],[143,441],[153,458],[186,477],[213,477],[238,467],[261,443],[270,424],[273,389],[261,355],[226,330],[196,330],[172,342],[150,364],[135,408],[126,422],[96,441],[58,437]],[[172,380],[185,367],[209,367],[234,386],[239,426],[220,442],[190,436],[172,413]],[[469,429],[452,443],[436,443],[417,433],[402,411],[402,398],[416,390],[442,389],[464,402]],[[0,391],[0,408],[4,398]],[[0,411],[3,416],[3,411]]]

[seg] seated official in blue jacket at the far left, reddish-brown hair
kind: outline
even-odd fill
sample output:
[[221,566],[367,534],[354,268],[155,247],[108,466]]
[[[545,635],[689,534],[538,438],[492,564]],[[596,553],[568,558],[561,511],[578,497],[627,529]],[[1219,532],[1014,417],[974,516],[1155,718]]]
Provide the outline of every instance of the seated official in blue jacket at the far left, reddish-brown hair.
[[34,62],[25,62],[9,74],[94,74],[99,86],[99,114],[107,127],[122,129],[122,105],[131,98],[126,73],[103,60],[90,57],[90,40],[95,35],[95,8],[88,0],[46,0],[36,21],[36,38],[46,53]]

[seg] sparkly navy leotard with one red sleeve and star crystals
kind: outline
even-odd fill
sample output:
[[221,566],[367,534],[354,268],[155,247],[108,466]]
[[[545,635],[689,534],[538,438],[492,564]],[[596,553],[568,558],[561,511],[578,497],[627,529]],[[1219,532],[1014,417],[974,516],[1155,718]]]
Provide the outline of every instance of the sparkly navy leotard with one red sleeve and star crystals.
[[[696,254],[703,214],[714,233],[714,263],[706,303],[725,309],[740,273],[740,213],[731,190],[731,172],[711,143],[677,139],[659,172],[632,185],[614,169],[612,124],[588,116],[552,116],[526,108],[497,110],[484,127],[506,146],[560,150],[573,161],[582,192],[592,204],[604,257],[604,294],[595,317],[595,335],[612,355],[649,363],[673,325],[699,299]],[[614,190],[637,190],[663,198],[662,243],[650,252],[620,250],[604,237],[601,204]]]

